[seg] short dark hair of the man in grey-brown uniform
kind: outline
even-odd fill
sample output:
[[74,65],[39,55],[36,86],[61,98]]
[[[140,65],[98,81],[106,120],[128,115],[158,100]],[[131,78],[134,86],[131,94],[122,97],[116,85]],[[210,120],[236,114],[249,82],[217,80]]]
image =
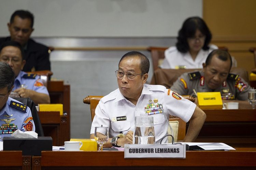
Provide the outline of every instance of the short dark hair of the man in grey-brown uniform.
[[[232,58],[231,58],[231,55],[226,51],[226,50],[221,50],[221,49],[216,49],[216,50],[213,50],[206,58],[206,61],[205,61],[205,67],[207,67],[208,65],[211,64],[211,60],[212,60],[212,57],[214,55],[217,55],[217,58],[219,58],[220,60],[222,61],[227,61],[229,60],[230,61],[230,69],[232,67]],[[229,69],[229,70],[230,70]]]

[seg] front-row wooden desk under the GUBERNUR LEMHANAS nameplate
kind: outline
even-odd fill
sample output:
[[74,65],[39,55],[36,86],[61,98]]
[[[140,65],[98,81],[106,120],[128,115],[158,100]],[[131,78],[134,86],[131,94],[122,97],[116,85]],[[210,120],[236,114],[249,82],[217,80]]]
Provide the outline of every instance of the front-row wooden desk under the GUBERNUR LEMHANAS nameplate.
[[43,151],[33,156],[32,169],[255,169],[256,148],[236,151],[187,151],[186,159],[125,159],[124,152]]

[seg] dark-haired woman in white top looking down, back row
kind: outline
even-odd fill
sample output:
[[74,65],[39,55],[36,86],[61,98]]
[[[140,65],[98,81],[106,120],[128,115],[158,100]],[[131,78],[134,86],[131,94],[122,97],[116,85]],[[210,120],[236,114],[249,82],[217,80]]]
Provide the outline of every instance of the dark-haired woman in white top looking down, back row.
[[209,45],[212,34],[203,19],[187,18],[177,37],[175,47],[165,51],[165,59],[161,68],[202,68],[208,54],[218,47]]

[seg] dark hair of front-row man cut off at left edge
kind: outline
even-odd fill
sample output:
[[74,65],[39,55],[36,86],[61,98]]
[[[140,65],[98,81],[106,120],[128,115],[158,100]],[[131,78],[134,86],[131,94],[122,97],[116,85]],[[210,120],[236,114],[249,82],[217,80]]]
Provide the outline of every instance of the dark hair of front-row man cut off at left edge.
[[0,62],[0,89],[7,87],[10,91],[14,84],[15,74],[8,63]]

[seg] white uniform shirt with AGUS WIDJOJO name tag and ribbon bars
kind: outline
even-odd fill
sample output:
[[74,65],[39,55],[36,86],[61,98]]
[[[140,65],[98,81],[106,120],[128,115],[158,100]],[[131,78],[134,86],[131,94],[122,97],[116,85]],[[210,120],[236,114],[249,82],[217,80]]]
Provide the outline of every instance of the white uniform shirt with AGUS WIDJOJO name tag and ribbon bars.
[[[196,108],[193,102],[161,85],[144,84],[136,105],[116,89],[103,97],[97,105],[90,134],[94,134],[95,127],[101,125],[109,127],[110,137],[120,133],[126,134],[128,131],[134,131],[135,116],[147,115],[154,117],[156,143],[160,143],[161,138],[167,134],[168,122],[158,108],[158,104],[163,105],[167,117],[169,114],[178,116],[185,122],[189,121]],[[152,105],[156,107],[154,110],[151,108]]]

